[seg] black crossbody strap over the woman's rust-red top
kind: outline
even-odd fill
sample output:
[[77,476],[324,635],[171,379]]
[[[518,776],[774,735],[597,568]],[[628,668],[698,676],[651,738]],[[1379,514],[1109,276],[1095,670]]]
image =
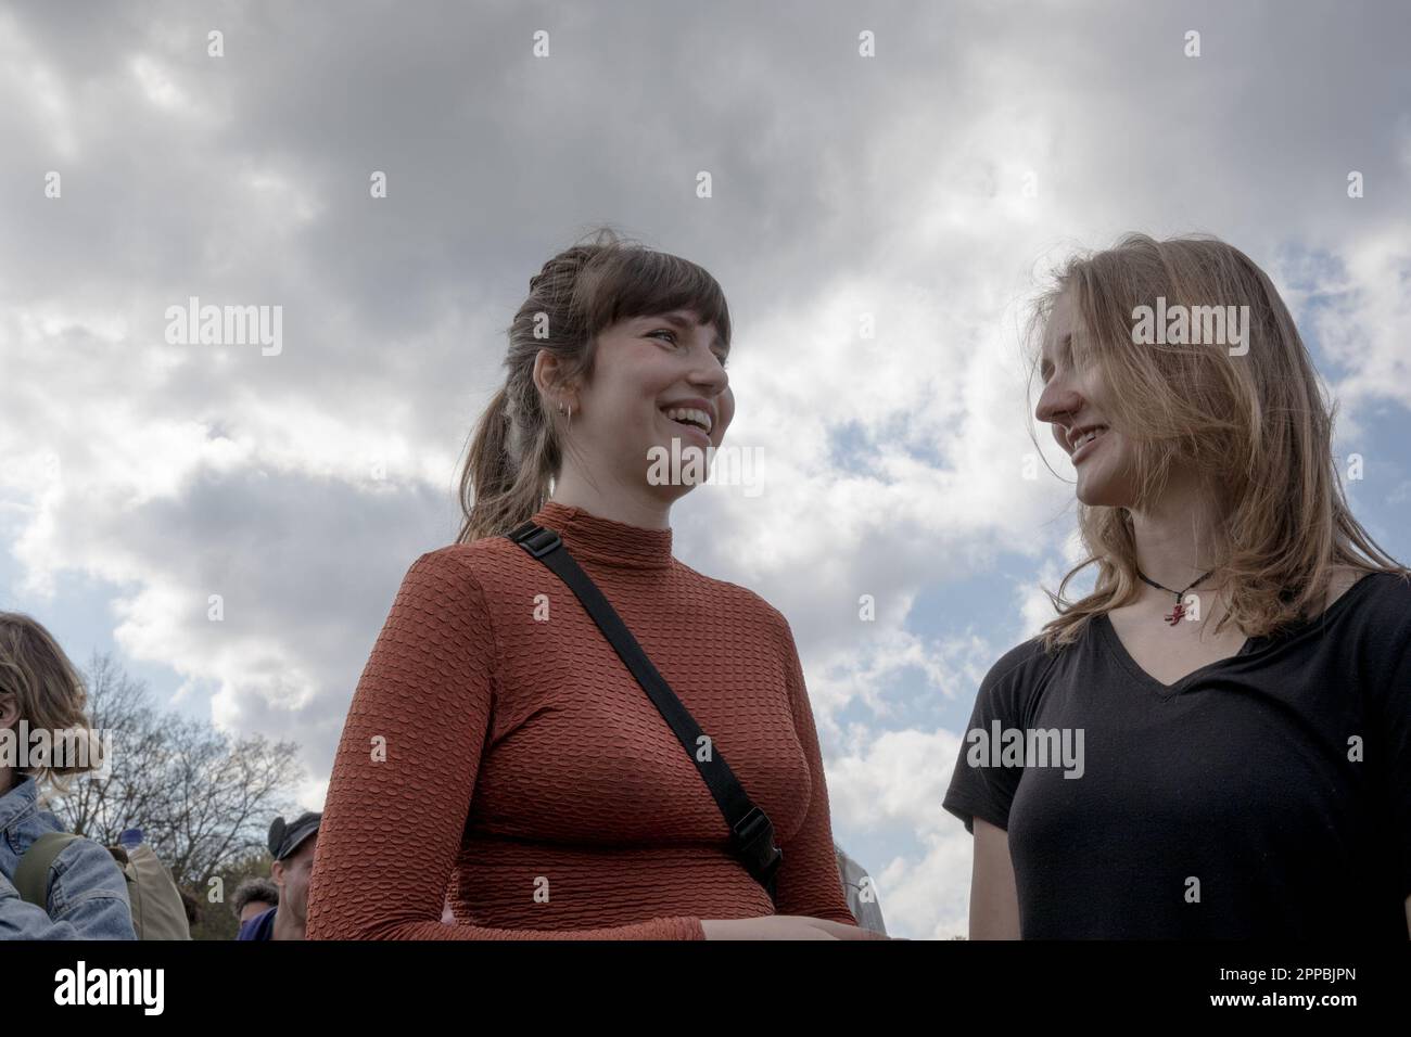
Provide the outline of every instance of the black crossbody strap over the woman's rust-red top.
[[696,769],[706,780],[706,786],[710,789],[711,796],[714,796],[720,811],[725,815],[725,823],[729,825],[735,855],[739,856],[741,862],[759,885],[765,887],[769,899],[775,900],[775,873],[779,871],[783,851],[775,845],[775,825],[769,820],[769,815],[745,794],[739,779],[735,777],[735,772],[729,769],[729,765],[718,749],[711,748],[711,758],[708,760],[698,758],[696,749],[700,738],[704,736],[700,724],[696,722],[696,718],[682,704],[682,700],[676,697],[670,684],[658,673],[652,660],[648,659],[646,652],[642,650],[642,646],[636,643],[636,638],[626,628],[626,624],[612,610],[608,600],[602,597],[602,591],[598,590],[597,584],[593,583],[588,574],[573,560],[573,556],[569,554],[569,549],[563,546],[559,535],[535,522],[525,522],[507,533],[507,536],[523,547],[529,557],[542,562],[553,570],[569,586],[569,590],[577,595],[579,601],[583,602],[588,615],[593,617],[598,629],[602,631],[612,648],[617,649],[618,656],[626,663],[628,670],[636,677],[642,690],[646,691],[648,698],[660,711],[676,734],[676,739],[686,749],[686,755],[691,758]]

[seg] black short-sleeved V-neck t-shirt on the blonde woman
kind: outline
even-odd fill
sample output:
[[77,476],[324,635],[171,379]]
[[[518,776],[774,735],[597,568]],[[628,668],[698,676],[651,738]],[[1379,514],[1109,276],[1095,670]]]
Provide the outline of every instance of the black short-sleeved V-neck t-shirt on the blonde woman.
[[1026,938],[1405,940],[1411,583],[1363,576],[1170,687],[1106,615],[1024,642],[981,683],[944,807],[1009,832]]

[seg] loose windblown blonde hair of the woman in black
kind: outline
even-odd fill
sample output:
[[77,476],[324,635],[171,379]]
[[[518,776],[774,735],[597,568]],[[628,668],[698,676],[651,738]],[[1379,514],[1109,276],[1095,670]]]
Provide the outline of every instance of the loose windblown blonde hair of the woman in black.
[[[1357,523],[1332,456],[1324,388],[1288,308],[1245,253],[1208,236],[1157,241],[1127,234],[1105,251],[1070,260],[1034,308],[1030,332],[1071,293],[1072,356],[1096,364],[1108,389],[1103,413],[1133,446],[1134,508],[1161,494],[1177,463],[1198,471],[1221,516],[1208,556],[1230,581],[1229,612],[1249,636],[1311,618],[1332,570],[1411,576]],[[1136,344],[1139,306],[1249,306],[1247,353],[1223,343]],[[1037,370],[1033,354],[1030,385]],[[1030,408],[1030,412],[1033,408]],[[1058,617],[1044,625],[1044,649],[1077,639],[1101,612],[1133,601],[1136,542],[1127,508],[1078,502],[1086,557],[1044,591]],[[1067,601],[1068,583],[1098,566],[1091,594]]]

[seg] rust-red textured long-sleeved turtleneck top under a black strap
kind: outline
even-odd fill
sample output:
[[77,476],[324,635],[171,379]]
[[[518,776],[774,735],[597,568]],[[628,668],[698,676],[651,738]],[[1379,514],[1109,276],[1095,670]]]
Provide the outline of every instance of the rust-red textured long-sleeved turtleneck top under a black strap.
[[785,618],[676,560],[670,529],[556,501],[533,519],[769,814],[777,907],[573,591],[488,538],[420,556],[402,581],[333,766],[309,938],[701,940],[701,918],[775,913],[856,924]]

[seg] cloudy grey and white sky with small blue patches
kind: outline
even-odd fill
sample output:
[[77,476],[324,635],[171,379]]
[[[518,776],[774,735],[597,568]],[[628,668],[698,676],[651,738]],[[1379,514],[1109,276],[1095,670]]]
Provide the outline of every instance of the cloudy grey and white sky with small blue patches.
[[[1411,557],[1408,40],[1390,1],[0,4],[0,608],[298,739],[319,807],[401,577],[454,539],[504,327],[610,223],[725,288],[728,442],[763,457],[758,495],[677,504],[677,556],[789,618],[890,931],[964,933],[941,796],[1074,550],[1046,436],[1024,477],[1054,262],[1252,255]],[[282,306],[281,351],[168,343],[189,296]]]

